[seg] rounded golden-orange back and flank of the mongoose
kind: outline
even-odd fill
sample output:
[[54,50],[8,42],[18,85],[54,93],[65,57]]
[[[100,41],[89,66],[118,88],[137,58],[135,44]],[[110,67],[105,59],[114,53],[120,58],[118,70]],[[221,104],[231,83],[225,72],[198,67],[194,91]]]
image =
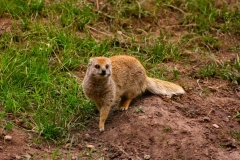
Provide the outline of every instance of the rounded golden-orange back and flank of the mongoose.
[[117,96],[135,98],[145,91],[146,71],[136,58],[120,55],[110,57],[110,60]]

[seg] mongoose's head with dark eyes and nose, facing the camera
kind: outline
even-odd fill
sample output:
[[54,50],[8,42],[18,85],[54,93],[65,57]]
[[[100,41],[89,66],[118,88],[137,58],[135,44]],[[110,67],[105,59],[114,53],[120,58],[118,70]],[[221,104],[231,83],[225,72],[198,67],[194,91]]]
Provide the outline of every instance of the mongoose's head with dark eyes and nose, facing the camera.
[[93,77],[109,77],[112,74],[110,59],[106,57],[94,57],[88,63],[88,75]]

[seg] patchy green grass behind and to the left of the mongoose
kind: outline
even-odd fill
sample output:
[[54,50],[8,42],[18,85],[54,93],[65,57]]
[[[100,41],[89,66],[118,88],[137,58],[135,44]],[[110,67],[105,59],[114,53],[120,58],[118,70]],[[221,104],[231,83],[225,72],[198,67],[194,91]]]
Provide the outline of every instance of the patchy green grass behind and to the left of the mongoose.
[[82,129],[96,109],[73,73],[84,72],[91,56],[133,55],[150,76],[174,81],[184,75],[159,63],[191,66],[186,50],[203,63],[209,54],[227,51],[235,58],[207,62],[196,74],[239,84],[238,6],[208,0],[109,0],[97,10],[83,0],[2,0],[0,21],[11,26],[0,32],[2,127],[18,125],[7,116],[13,114],[28,130],[56,142]]

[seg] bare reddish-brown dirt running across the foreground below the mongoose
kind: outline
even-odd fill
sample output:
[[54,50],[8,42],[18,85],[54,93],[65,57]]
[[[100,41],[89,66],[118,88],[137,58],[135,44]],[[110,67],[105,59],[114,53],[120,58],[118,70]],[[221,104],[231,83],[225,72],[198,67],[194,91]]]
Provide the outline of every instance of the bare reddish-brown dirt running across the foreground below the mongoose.
[[[114,110],[100,133],[96,117],[83,133],[62,147],[31,143],[31,134],[13,129],[0,140],[3,159],[231,159],[240,157],[240,99],[234,85],[221,80],[188,79],[187,93],[171,100],[146,94],[128,111]],[[204,89],[208,89],[205,92]],[[206,90],[205,89],[205,90]]]

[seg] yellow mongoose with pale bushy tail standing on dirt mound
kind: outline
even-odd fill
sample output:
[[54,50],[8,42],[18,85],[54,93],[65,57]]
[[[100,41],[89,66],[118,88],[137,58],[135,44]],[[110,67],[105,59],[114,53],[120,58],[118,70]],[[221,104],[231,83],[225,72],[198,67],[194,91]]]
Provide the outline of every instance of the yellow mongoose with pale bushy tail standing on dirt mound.
[[127,110],[131,101],[146,90],[169,97],[185,93],[179,85],[148,77],[142,64],[126,55],[90,58],[82,86],[100,112],[100,131],[104,131],[108,113],[117,100],[117,107]]

